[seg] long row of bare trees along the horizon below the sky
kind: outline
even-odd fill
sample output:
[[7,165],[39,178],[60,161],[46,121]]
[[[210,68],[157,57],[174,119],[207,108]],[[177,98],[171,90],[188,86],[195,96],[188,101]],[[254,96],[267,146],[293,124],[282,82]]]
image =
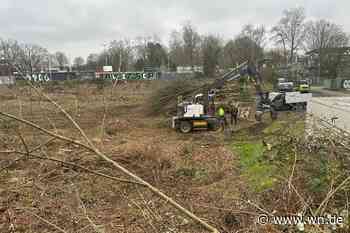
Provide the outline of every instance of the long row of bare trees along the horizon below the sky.
[[[145,66],[175,71],[178,66],[203,66],[204,73],[212,76],[218,68],[234,67],[246,60],[268,57],[275,64],[291,64],[297,54],[310,50],[318,51],[320,63],[329,64],[324,49],[348,44],[349,36],[341,25],[326,19],[306,20],[304,8],[298,7],[284,10],[271,29],[248,24],[230,39],[201,35],[191,22],[186,22],[170,33],[167,44],[157,36],[114,40],[100,53],[89,54],[86,59],[74,58],[72,66],[94,71],[103,65],[111,65],[115,71],[141,71]],[[27,72],[49,66],[62,69],[71,63],[63,52],[51,54],[35,44],[1,39],[0,46],[2,57],[15,61]]]

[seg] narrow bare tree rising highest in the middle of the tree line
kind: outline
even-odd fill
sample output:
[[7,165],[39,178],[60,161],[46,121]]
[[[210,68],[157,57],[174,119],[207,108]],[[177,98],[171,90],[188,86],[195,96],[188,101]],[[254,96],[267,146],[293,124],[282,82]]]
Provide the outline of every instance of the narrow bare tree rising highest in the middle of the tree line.
[[199,54],[200,36],[194,26],[187,22],[182,27],[182,37],[184,42],[184,53],[188,59],[188,64],[193,67],[195,58]]

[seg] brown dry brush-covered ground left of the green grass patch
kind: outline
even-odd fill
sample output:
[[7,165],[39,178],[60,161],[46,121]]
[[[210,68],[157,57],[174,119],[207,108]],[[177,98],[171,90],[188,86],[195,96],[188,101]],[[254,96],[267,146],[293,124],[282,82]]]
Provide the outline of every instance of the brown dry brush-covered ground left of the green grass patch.
[[[241,208],[235,200],[245,185],[239,178],[237,158],[225,147],[221,133],[181,135],[169,128],[167,117],[149,116],[147,97],[152,90],[150,83],[129,83],[113,90],[81,85],[51,87],[45,92],[67,109],[110,158],[213,225],[234,227],[230,221],[225,223],[227,212],[216,208]],[[3,88],[0,106],[1,111],[82,140],[57,109],[27,87]],[[1,151],[26,151],[19,135],[30,149],[49,139],[3,117],[0,125]],[[59,141],[38,154],[123,176],[95,155]],[[20,157],[14,153],[0,156],[1,167]],[[67,232],[96,232],[88,217],[101,232],[204,231],[144,188],[45,160],[22,159],[2,170],[0,197],[0,232],[10,232],[11,224],[16,232],[55,231],[35,215]]]

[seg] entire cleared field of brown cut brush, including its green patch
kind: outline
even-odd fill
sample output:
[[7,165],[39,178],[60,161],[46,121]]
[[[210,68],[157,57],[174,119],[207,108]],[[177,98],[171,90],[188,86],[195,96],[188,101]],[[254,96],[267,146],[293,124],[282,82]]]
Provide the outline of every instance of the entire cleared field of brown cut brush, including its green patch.
[[[150,96],[159,86],[158,82],[130,82],[114,88],[62,83],[45,86],[43,91],[71,114],[100,151],[221,233],[285,232],[283,226],[258,225],[257,216],[298,213],[307,206],[316,209],[330,188],[347,176],[343,170],[325,171],[338,160],[318,157],[320,150],[337,156],[345,153],[343,149],[329,153],[322,140],[302,140],[301,112],[281,113],[274,122],[266,115],[261,124],[241,120],[232,134],[183,135],[170,128],[170,116],[150,112]],[[238,98],[237,91],[231,93]],[[1,88],[0,111],[83,141],[60,111],[27,86]],[[49,139],[29,126],[0,118],[1,233],[207,232],[143,187],[47,160],[129,179],[84,148],[54,140],[35,152],[41,159],[25,156]],[[332,151],[338,150],[334,146]],[[348,164],[345,161],[340,167]],[[326,205],[340,212],[344,196],[342,192]],[[288,227],[290,232],[295,230]]]

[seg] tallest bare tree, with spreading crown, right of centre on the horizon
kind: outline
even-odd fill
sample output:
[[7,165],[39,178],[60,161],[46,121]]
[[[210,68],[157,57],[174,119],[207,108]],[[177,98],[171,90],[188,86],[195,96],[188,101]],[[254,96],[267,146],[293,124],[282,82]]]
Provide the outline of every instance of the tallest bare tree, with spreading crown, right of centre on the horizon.
[[289,62],[293,62],[296,51],[301,47],[305,36],[304,8],[292,8],[285,10],[279,23],[271,30],[273,39],[281,44],[285,57],[289,50]]

